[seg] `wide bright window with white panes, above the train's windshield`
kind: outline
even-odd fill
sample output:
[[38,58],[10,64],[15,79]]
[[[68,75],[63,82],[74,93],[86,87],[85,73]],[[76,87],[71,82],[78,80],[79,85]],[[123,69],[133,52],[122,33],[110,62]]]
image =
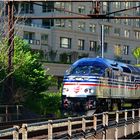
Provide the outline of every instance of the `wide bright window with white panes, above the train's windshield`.
[[71,38],[60,37],[60,48],[71,48]]

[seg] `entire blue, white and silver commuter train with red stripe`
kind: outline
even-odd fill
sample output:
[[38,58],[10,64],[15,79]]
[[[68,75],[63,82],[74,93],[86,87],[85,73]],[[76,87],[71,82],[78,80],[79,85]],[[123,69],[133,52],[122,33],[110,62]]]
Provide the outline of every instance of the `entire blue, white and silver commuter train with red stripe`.
[[105,58],[82,58],[63,79],[64,112],[140,107],[140,68]]

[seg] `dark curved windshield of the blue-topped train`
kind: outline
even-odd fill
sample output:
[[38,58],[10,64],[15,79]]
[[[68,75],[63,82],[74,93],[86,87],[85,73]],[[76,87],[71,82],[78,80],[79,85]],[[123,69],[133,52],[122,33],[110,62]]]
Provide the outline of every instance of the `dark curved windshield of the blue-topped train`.
[[102,75],[104,72],[103,67],[94,65],[94,66],[77,66],[75,68],[69,69],[69,72],[66,75]]

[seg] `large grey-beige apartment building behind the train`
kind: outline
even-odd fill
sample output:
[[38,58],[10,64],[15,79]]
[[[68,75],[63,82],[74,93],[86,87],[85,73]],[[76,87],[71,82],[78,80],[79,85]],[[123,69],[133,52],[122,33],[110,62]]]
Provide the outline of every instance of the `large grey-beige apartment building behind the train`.
[[[100,12],[111,13],[140,2],[101,2]],[[18,16],[81,16],[94,14],[95,2],[16,2]],[[140,16],[140,8],[116,12],[116,16]],[[18,35],[43,60],[73,63],[81,57],[101,56],[101,26],[104,26],[104,57],[135,64],[132,51],[140,46],[140,19],[31,19],[16,23]]]

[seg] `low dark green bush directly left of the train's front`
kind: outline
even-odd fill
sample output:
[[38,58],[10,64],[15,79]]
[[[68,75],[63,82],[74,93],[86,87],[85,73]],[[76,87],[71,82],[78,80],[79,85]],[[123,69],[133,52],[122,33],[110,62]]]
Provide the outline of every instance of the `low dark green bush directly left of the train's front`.
[[25,106],[41,115],[53,114],[60,117],[61,93],[42,92],[36,96],[31,95]]

